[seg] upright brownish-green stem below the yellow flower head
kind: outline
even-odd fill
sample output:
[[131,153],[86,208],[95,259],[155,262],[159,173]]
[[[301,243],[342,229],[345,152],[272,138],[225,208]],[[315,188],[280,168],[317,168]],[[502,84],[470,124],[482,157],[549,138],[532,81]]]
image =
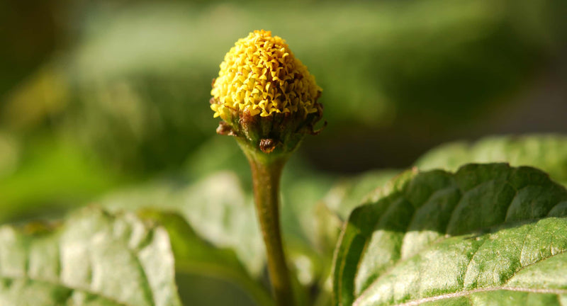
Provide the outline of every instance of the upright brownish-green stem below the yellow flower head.
[[249,156],[256,212],[268,259],[268,272],[276,305],[291,306],[293,290],[291,279],[283,253],[279,223],[279,181],[286,159],[266,160]]

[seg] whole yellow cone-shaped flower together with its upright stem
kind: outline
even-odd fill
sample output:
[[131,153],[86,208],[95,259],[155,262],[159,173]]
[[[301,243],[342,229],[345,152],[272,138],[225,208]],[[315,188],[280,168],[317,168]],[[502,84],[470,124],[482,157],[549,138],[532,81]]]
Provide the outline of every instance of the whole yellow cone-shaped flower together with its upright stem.
[[293,292],[279,223],[279,181],[284,164],[303,137],[315,135],[322,117],[322,89],[270,31],[256,30],[235,43],[213,81],[210,108],[223,121],[252,169],[254,200],[277,305],[293,305]]

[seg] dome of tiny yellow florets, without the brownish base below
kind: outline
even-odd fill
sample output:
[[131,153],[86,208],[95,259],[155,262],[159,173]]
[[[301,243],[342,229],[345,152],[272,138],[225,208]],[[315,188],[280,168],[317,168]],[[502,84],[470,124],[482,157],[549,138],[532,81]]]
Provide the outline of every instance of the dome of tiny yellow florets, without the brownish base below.
[[321,88],[285,40],[270,31],[255,30],[225,55],[210,94],[214,117],[225,108],[267,117],[273,113],[303,115],[318,112]]

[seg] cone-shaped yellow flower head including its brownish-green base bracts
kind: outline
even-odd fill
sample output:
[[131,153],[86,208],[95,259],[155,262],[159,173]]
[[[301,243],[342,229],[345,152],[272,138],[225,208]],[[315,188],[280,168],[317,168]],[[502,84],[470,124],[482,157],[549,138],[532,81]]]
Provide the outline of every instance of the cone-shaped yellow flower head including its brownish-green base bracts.
[[210,108],[225,121],[220,134],[235,135],[266,153],[278,147],[291,152],[322,116],[321,91],[284,40],[256,30],[225,55]]

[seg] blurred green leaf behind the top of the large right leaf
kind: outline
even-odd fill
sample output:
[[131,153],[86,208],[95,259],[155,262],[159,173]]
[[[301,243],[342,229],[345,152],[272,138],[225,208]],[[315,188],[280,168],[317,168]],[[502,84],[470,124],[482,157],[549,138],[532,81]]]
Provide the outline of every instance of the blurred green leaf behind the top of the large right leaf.
[[553,179],[567,182],[567,136],[493,136],[473,143],[451,142],[427,152],[415,164],[420,170],[455,171],[463,164],[489,162],[534,166]]

